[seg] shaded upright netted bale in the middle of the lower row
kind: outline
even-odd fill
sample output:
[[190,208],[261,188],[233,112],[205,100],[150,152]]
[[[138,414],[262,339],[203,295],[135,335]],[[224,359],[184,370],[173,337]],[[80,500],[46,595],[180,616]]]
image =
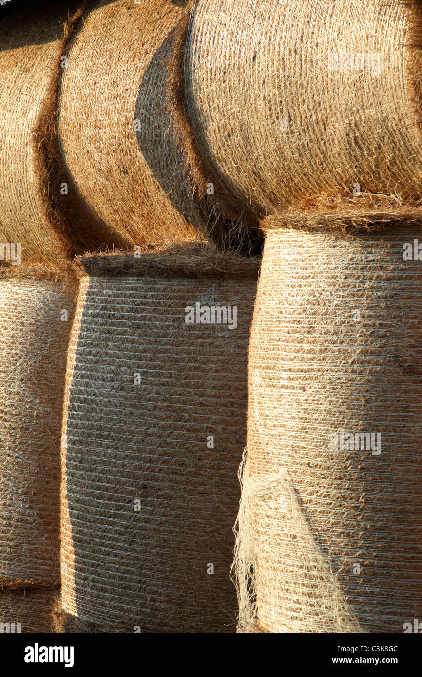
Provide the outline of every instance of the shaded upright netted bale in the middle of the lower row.
[[233,632],[259,264],[194,249],[81,265],[64,399],[62,611],[104,631]]

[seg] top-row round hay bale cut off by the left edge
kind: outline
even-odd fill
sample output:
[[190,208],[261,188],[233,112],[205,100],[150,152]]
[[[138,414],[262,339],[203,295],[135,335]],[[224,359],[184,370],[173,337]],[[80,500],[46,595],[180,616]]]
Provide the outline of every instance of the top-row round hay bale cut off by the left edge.
[[[0,242],[19,244],[26,265],[55,269],[85,248],[113,244],[64,194],[69,179],[57,148],[62,56],[84,5],[16,3],[0,22]],[[3,251],[0,257],[13,263]]]

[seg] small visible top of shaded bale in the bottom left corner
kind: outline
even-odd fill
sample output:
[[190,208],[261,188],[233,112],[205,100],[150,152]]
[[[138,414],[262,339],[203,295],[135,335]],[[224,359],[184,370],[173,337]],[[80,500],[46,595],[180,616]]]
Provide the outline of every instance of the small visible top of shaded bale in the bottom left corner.
[[0,632],[53,633],[53,610],[59,596],[60,588],[0,590]]

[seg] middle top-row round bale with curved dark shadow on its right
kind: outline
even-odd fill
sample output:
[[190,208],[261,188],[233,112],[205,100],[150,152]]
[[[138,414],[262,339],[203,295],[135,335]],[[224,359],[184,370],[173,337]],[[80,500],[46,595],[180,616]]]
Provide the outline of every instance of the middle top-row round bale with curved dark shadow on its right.
[[97,219],[127,246],[192,240],[203,221],[166,106],[166,58],[184,3],[99,2],[68,52],[62,152]]

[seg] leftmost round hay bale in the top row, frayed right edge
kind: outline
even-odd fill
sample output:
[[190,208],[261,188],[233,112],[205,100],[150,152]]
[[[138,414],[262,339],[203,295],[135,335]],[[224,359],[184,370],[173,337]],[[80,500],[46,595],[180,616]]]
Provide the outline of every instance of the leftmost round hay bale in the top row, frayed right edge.
[[[81,4],[17,3],[0,22],[0,242],[20,243],[28,265],[56,267],[71,250],[51,209],[54,173],[37,130],[51,113],[68,18]],[[60,183],[55,190],[60,194]]]

